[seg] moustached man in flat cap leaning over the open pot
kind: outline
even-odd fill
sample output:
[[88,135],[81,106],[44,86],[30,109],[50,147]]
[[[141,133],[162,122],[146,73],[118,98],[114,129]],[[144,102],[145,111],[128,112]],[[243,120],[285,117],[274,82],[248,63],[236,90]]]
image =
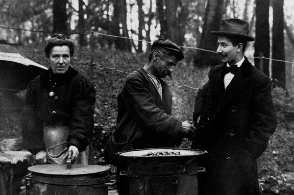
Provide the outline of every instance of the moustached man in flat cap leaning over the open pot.
[[193,122],[180,122],[171,116],[172,93],[162,80],[171,76],[174,66],[183,58],[176,44],[158,39],[151,46],[145,66],[130,73],[123,83],[118,96],[117,128],[104,148],[106,161],[118,165],[120,195],[128,191],[126,178],[119,175],[127,168],[115,152],[179,146],[183,138],[195,133]]

